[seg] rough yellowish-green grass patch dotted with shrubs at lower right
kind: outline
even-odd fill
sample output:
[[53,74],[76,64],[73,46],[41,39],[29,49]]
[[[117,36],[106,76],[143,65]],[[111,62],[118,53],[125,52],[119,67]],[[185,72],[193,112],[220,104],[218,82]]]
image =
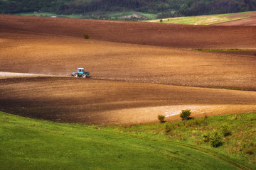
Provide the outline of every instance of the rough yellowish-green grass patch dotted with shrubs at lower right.
[[159,125],[119,125],[117,130],[207,149],[213,147],[210,140],[205,142],[203,135],[212,137],[216,131],[220,133],[223,145],[213,149],[215,152],[236,159],[241,164],[246,162],[256,169],[256,113],[220,115]]

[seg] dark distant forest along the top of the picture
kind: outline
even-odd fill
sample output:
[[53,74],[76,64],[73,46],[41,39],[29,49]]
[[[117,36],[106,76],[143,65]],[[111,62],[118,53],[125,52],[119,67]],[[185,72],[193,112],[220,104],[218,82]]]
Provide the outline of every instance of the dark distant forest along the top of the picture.
[[137,11],[158,18],[256,11],[256,0],[0,0],[0,13]]

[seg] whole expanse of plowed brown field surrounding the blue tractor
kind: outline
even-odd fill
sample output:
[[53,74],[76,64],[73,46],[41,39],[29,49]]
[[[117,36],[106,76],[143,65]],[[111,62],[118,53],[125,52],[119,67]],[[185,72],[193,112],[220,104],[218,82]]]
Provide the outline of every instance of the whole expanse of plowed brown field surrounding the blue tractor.
[[[101,32],[103,25],[107,28],[104,33]],[[181,27],[173,25],[170,28],[178,30]],[[137,28],[138,32],[129,32]],[[211,28],[225,27],[185,26],[183,30],[191,33],[188,37],[179,35],[183,45],[178,47],[192,47],[192,40],[188,43],[186,40],[193,29]],[[244,28],[249,35],[255,35],[250,32],[255,27]],[[97,124],[150,123],[157,121],[158,114],[168,116],[170,121],[180,120],[176,114],[187,108],[193,111],[193,117],[256,111],[256,57],[253,54],[196,52],[120,43],[139,43],[140,36],[146,37],[147,33],[147,37],[151,37],[152,31],[156,31],[152,36],[159,35],[160,39],[156,38],[153,44],[165,46],[164,41],[161,44],[164,30],[170,31],[169,27],[161,28],[161,24],[151,23],[0,15],[0,73],[33,73],[15,77],[0,74],[0,111],[31,118]],[[97,40],[85,40],[82,33],[95,35]],[[126,41],[126,33],[134,36]],[[233,38],[234,35],[228,36]],[[230,45],[255,47],[255,39],[243,36],[248,40],[230,41]],[[107,38],[115,42],[107,42]],[[220,48],[229,43],[221,40],[208,42],[208,45]],[[201,45],[204,44],[201,42]],[[91,72],[91,78],[67,77],[77,67],[85,67]]]

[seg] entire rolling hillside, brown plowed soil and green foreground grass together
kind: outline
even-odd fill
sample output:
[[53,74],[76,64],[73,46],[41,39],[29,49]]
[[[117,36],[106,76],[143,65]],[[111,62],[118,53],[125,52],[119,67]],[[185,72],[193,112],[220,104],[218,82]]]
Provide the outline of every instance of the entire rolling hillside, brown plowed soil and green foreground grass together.
[[[1,168],[255,168],[255,35],[0,15]],[[70,77],[78,67],[90,78]],[[183,109],[196,120],[181,122]],[[203,141],[225,125],[222,146]]]

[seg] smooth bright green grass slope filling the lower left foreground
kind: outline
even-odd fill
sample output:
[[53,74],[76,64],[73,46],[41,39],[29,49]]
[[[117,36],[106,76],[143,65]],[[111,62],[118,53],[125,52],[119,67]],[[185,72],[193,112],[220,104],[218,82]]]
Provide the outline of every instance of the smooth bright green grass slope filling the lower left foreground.
[[144,137],[148,134],[144,130],[128,128],[141,133],[134,135],[124,129],[52,123],[0,112],[1,169],[234,169],[233,165],[246,169],[215,152],[164,140],[161,132],[157,132],[160,138]]

